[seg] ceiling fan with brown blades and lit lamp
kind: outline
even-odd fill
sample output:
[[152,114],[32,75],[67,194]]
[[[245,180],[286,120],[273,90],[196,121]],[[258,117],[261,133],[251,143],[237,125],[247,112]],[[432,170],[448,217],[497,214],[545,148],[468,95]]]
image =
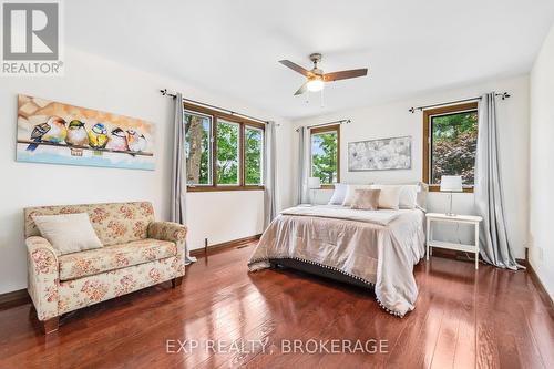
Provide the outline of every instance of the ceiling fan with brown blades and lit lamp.
[[332,82],[332,81],[338,81],[338,80],[348,80],[348,79],[353,79],[357,76],[363,76],[368,74],[368,69],[352,69],[349,71],[340,71],[340,72],[331,72],[331,73],[324,73],[321,69],[318,68],[318,63],[321,61],[321,54],[320,53],[312,53],[310,54],[310,60],[314,62],[314,68],[311,70],[306,70],[302,66],[293,63],[289,60],[279,60],[279,63],[281,63],[285,66],[290,68],[295,72],[300,73],[301,75],[306,76],[308,80],[298,89],[298,91],[295,92],[295,95],[300,95],[305,93],[306,91],[321,91],[325,88],[325,82]]

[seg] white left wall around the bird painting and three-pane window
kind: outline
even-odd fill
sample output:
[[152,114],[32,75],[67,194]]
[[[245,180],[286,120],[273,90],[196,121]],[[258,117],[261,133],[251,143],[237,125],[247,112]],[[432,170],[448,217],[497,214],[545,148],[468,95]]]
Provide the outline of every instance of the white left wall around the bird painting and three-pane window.
[[[25,288],[23,207],[48,204],[152,201],[160,219],[168,217],[173,101],[158,90],[275,120],[279,144],[278,205],[290,203],[288,122],[246,104],[192,88],[183,81],[153,75],[96,55],[66,48],[63,78],[1,78],[0,121],[0,294]],[[120,113],[156,124],[156,170],[133,171],[16,162],[17,94],[24,93],[74,105]],[[261,232],[261,192],[188,194],[189,243],[203,247]]]

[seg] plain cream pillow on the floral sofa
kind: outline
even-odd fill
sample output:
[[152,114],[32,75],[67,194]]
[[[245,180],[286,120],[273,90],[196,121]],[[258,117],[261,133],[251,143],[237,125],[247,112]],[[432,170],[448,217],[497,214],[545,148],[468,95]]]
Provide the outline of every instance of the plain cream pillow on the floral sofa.
[[86,213],[35,215],[33,221],[42,237],[61,255],[102,247]]

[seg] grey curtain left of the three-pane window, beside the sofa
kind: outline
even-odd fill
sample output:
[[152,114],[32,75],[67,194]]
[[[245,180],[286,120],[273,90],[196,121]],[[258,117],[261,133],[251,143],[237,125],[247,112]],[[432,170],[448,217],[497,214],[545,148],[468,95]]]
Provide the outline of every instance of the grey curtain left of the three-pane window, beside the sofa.
[[[171,188],[171,214],[170,221],[186,224],[186,156],[185,156],[185,122],[183,95],[177,93],[174,98],[173,115],[173,166],[172,166],[172,188]],[[185,244],[185,265],[196,262],[191,256],[188,245]]]

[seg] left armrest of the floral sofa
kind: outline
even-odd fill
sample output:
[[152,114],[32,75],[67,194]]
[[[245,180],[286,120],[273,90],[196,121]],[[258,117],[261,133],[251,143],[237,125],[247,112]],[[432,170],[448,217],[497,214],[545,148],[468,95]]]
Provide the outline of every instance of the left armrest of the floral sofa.
[[48,320],[58,316],[58,252],[43,237],[29,237],[25,244],[29,295],[39,320]]

